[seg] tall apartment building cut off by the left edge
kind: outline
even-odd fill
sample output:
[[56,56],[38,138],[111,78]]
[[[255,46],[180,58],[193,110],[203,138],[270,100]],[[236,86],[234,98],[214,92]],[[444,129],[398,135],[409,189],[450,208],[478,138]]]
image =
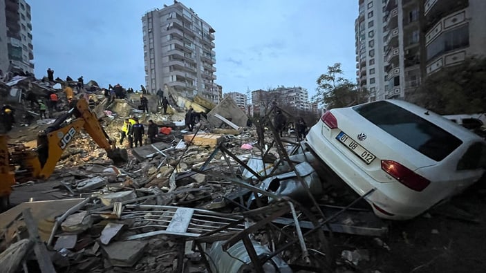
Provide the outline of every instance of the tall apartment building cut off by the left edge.
[[[5,17],[0,24],[0,44],[6,44],[7,50],[0,48],[0,51],[8,52],[8,63],[4,64],[3,57],[1,59],[2,70],[12,64],[15,68],[19,68],[29,73],[34,73],[34,64],[31,62],[34,59],[34,46],[32,46],[32,24],[30,23],[32,17],[30,15],[30,6],[24,0],[0,0],[4,1]],[[6,36],[3,36],[6,32]],[[5,41],[3,41],[3,39]],[[1,55],[1,53],[0,53]],[[3,71],[6,71],[6,69]]]

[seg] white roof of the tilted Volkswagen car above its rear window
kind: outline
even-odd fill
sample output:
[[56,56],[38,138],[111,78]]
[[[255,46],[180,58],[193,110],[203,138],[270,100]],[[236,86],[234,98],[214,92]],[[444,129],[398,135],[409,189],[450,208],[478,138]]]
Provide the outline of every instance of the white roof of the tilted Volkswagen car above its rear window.
[[[379,102],[375,101],[375,102]],[[456,136],[456,138],[459,138],[462,141],[485,141],[483,138],[480,138],[479,135],[476,135],[476,133],[472,133],[471,131],[465,129],[464,127],[456,124],[455,122],[452,122],[451,120],[448,120],[445,117],[442,117],[442,115],[438,115],[437,113],[434,113],[433,111],[429,111],[427,109],[424,109],[418,105],[412,104],[410,102],[406,102],[404,100],[382,100],[386,102],[390,102],[392,104],[395,104],[397,106],[402,107],[403,109],[406,109],[410,111],[411,113],[414,113],[415,115],[418,115],[419,117],[422,117],[424,120],[427,120],[433,124],[436,124],[440,128],[444,129],[445,131],[451,133],[452,135]],[[369,102],[373,103],[373,102]]]

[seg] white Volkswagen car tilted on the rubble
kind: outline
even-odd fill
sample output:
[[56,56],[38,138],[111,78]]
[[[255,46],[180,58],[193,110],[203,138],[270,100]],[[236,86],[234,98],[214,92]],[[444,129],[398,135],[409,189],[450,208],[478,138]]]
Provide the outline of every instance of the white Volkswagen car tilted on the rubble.
[[381,218],[406,220],[476,182],[486,142],[415,104],[380,100],[324,113],[306,144]]

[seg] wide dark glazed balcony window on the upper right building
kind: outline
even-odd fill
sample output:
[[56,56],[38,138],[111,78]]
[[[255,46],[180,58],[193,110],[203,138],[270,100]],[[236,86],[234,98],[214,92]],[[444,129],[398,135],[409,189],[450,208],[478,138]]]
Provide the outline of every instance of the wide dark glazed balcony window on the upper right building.
[[427,46],[427,61],[457,48],[469,46],[469,25],[460,26],[447,32],[442,32],[439,37]]

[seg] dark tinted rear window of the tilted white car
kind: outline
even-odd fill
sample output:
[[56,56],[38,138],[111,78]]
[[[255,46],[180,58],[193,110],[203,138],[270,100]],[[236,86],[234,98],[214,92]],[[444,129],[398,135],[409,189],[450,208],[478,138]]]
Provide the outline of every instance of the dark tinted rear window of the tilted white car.
[[390,102],[372,102],[353,109],[386,133],[436,161],[449,156],[462,144],[436,124]]

